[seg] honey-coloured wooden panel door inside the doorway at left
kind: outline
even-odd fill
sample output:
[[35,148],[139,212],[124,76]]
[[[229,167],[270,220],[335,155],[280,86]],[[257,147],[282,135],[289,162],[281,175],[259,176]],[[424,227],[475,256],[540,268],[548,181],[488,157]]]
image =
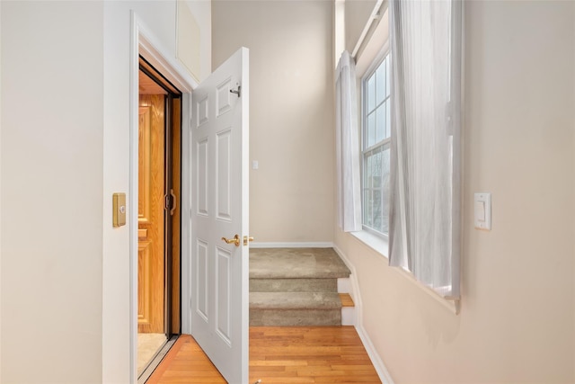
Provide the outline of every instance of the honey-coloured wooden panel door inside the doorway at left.
[[164,334],[164,94],[139,96],[137,332]]

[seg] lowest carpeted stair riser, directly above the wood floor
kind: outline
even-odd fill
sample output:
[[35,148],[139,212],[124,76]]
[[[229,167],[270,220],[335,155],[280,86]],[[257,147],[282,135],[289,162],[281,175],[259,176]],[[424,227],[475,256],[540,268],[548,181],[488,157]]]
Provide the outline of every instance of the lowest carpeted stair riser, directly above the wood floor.
[[341,309],[250,309],[250,326],[341,326]]

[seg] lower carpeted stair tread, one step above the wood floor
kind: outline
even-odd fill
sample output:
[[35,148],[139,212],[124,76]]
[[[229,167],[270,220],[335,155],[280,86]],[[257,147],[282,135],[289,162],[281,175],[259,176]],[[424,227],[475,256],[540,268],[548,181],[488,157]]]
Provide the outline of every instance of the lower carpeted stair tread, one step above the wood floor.
[[340,309],[337,292],[250,292],[250,309]]

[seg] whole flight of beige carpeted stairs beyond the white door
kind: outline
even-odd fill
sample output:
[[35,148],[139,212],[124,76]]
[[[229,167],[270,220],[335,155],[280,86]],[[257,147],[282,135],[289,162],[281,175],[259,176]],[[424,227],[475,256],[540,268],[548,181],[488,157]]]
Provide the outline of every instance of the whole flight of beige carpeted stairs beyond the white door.
[[338,278],[332,248],[250,249],[250,326],[341,326]]

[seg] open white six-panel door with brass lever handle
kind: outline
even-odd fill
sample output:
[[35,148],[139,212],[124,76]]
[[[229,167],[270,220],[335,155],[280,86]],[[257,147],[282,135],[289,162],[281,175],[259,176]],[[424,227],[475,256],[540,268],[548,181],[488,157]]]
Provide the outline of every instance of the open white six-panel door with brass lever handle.
[[191,106],[191,330],[233,384],[248,382],[248,65],[239,49]]

